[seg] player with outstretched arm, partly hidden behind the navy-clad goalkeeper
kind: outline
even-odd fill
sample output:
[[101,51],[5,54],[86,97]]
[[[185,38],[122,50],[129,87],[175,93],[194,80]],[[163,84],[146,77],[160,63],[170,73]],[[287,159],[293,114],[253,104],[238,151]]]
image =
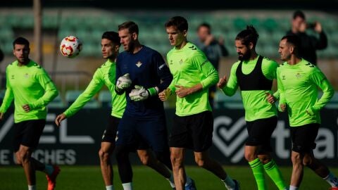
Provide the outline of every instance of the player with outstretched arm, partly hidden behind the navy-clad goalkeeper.
[[[56,125],[60,125],[62,120],[70,118],[78,110],[80,110],[92,97],[104,86],[108,87],[112,96],[112,111],[108,118],[108,126],[104,131],[101,148],[99,150],[99,158],[101,165],[102,177],[106,184],[107,190],[113,189],[113,167],[111,165],[111,155],[115,148],[115,137],[118,129],[118,123],[125,111],[125,94],[118,95],[115,92],[115,59],[118,56],[120,49],[120,37],[117,32],[104,32],[101,39],[101,51],[103,58],[107,61],[99,67],[94,73],[92,81],[88,84],[88,87],[84,92],[75,100],[75,102],[64,113],[61,113],[56,117]],[[168,168],[151,156],[151,152],[148,150],[138,151],[140,160],[145,165],[158,170],[163,176],[170,176]],[[159,169],[158,169],[159,168]]]

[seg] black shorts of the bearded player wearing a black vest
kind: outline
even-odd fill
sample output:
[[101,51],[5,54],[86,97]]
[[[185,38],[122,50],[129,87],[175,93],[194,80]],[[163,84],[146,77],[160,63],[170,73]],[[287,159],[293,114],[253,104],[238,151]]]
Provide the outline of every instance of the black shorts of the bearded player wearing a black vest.
[[246,129],[249,137],[246,139],[246,146],[261,146],[259,153],[273,151],[270,145],[271,135],[277,127],[277,117],[264,118],[259,120],[247,121]]

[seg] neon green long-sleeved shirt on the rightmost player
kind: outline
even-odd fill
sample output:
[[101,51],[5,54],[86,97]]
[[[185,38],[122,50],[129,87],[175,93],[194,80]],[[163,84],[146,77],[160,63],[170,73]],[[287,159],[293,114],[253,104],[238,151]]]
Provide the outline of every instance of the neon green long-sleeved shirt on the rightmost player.
[[[291,127],[320,123],[319,110],[334,94],[334,89],[323,72],[304,59],[296,65],[280,65],[277,68],[277,86],[280,104],[287,105]],[[319,100],[318,87],[323,90],[323,96]]]

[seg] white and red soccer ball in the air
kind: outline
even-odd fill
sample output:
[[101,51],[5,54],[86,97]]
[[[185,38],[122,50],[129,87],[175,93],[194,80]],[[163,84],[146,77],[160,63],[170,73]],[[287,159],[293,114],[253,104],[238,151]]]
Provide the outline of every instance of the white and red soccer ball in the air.
[[82,42],[75,36],[64,37],[60,44],[61,54],[68,58],[75,58],[82,51]]

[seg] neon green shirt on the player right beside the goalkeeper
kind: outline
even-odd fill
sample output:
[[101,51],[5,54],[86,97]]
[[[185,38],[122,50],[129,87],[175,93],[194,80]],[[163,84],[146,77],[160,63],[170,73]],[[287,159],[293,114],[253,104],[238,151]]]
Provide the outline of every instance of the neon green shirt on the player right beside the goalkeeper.
[[167,54],[173,81],[169,89],[175,93],[175,85],[194,87],[201,84],[203,89],[176,100],[176,115],[194,115],[211,110],[208,101],[208,87],[218,82],[218,72],[206,55],[194,44],[188,42],[182,49],[171,49]]

